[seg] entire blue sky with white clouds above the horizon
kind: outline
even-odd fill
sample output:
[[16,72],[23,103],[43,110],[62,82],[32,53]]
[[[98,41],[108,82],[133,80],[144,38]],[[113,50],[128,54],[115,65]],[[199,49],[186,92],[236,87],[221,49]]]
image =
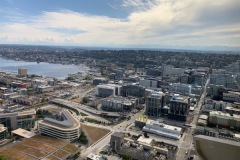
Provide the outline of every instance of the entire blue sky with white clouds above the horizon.
[[240,1],[0,0],[0,44],[240,50]]

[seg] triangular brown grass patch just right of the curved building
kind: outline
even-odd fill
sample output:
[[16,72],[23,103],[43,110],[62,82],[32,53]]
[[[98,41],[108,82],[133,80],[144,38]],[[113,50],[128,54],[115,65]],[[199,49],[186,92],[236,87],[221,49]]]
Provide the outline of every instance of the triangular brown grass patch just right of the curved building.
[[99,139],[101,139],[102,137],[104,137],[106,134],[110,132],[108,129],[92,127],[85,124],[81,124],[81,129],[84,131],[84,133],[88,137],[90,144],[97,142]]

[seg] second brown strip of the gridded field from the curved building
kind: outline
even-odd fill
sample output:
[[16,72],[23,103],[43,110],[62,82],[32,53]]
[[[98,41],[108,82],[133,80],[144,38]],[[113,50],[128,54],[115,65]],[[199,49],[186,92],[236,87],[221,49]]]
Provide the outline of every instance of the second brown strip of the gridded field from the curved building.
[[37,148],[39,148],[43,151],[49,152],[49,153],[51,153],[57,149],[56,147],[50,146],[46,143],[42,143],[39,141],[30,140],[30,139],[24,140],[22,142],[22,144],[25,144],[25,145],[28,145],[31,147],[37,147]]

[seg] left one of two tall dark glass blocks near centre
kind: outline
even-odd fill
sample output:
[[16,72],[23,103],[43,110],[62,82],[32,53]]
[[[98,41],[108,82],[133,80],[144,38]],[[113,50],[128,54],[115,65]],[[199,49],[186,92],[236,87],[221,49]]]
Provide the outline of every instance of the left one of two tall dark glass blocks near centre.
[[163,92],[150,93],[146,97],[146,114],[152,117],[160,117],[165,103],[165,94]]

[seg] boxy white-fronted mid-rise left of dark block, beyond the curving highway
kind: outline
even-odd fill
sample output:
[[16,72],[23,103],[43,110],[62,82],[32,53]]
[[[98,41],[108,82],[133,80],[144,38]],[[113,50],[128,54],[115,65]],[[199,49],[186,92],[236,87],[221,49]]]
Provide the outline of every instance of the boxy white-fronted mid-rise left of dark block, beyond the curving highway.
[[121,93],[121,86],[115,84],[97,85],[96,96],[106,98],[109,96],[117,96]]

